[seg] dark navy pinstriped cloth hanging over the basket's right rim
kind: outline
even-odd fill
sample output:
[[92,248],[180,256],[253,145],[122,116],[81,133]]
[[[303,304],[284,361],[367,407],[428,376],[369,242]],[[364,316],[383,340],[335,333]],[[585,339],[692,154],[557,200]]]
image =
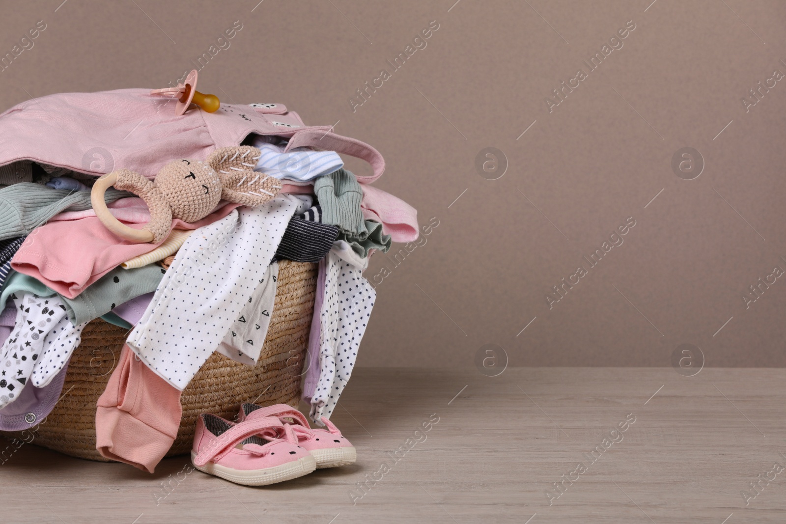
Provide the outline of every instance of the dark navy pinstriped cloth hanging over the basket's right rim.
[[[313,209],[312,207],[311,210]],[[306,211],[306,214],[309,211]],[[281,244],[278,244],[274,261],[317,263],[330,251],[336,236],[339,235],[339,229],[335,225],[312,222],[301,218],[302,216],[292,217],[289,221]]]

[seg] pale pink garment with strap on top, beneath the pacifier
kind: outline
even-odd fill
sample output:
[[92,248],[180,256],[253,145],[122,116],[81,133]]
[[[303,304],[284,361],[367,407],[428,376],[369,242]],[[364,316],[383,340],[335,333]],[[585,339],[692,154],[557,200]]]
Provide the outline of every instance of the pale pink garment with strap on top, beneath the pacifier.
[[0,166],[17,160],[100,176],[125,168],[154,178],[165,164],[207,158],[215,148],[240,145],[249,134],[287,137],[291,148],[311,146],[363,159],[380,177],[380,152],[362,141],[306,126],[282,104],[221,104],[215,113],[192,107],[174,115],[174,99],[149,90],[57,93],[24,101],[0,115]]

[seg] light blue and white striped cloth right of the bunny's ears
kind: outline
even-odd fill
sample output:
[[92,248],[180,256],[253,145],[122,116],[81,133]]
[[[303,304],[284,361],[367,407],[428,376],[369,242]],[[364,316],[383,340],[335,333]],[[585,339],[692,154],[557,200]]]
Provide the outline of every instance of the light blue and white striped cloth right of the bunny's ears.
[[293,148],[284,152],[286,143],[270,144],[267,137],[256,137],[252,145],[262,152],[255,171],[271,177],[301,182],[312,181],[314,178],[343,167],[343,160],[335,151],[313,151],[309,148]]

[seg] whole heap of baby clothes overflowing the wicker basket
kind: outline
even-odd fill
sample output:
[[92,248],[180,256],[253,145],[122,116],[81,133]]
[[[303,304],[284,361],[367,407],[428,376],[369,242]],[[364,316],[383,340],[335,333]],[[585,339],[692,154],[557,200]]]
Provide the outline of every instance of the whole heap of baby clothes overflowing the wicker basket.
[[[167,107],[168,106],[168,107]],[[303,399],[329,418],[351,375],[376,297],[369,256],[417,239],[417,213],[369,185],[375,149],[305,126],[281,104],[192,107],[148,90],[68,93],[0,115],[0,430],[32,427],[53,409],[86,324],[130,330],[97,405],[97,449],[153,471],[182,416],[180,395],[214,351],[255,365],[274,308],[278,261],[318,263]],[[193,223],[173,219],[160,243],[135,244],[97,218],[97,176],[149,178],[215,148],[259,149],[253,170],[281,191],[251,208],[226,201]],[[339,152],[371,163],[356,177]],[[108,189],[108,210],[141,229],[148,207]]]

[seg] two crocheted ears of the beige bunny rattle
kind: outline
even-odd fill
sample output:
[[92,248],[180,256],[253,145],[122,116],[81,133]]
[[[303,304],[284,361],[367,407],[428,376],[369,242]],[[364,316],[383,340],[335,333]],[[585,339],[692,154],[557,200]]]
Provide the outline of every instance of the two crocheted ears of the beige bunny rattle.
[[262,152],[250,145],[216,149],[208,156],[208,164],[219,173],[221,198],[230,202],[257,207],[276,196],[281,181],[254,171]]

